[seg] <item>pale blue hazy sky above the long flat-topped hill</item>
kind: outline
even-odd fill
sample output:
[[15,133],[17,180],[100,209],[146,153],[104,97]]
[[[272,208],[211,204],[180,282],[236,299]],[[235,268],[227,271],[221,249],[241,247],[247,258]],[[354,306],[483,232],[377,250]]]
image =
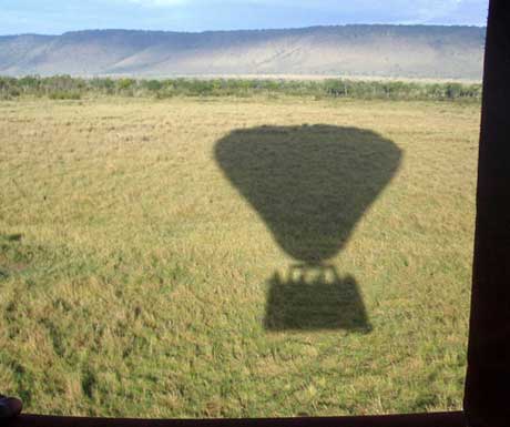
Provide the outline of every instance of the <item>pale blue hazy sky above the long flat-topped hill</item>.
[[0,0],[0,34],[346,23],[484,26],[489,0]]

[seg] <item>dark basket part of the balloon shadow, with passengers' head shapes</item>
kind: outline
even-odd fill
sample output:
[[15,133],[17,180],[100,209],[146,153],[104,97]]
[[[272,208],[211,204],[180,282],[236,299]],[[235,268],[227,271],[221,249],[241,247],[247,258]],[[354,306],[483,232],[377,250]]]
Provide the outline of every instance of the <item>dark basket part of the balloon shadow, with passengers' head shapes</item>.
[[333,331],[369,333],[365,304],[356,279],[340,277],[334,266],[296,265],[268,282],[267,331]]

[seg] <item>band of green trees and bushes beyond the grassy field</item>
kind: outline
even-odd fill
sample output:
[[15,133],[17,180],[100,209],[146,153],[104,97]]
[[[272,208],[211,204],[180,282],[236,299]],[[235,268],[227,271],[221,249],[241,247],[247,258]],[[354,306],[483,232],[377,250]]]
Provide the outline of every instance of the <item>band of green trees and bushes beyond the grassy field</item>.
[[402,81],[323,81],[244,79],[81,79],[69,75],[42,78],[0,77],[0,99],[23,96],[79,100],[102,95],[172,96],[253,96],[289,95],[389,100],[480,100],[481,84],[424,83]]

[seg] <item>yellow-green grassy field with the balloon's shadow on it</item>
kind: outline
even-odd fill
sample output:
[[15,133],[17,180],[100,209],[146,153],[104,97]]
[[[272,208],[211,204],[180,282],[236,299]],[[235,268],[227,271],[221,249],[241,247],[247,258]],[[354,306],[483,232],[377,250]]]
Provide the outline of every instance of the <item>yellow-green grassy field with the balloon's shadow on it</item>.
[[479,106],[0,103],[0,388],[27,411],[461,407]]

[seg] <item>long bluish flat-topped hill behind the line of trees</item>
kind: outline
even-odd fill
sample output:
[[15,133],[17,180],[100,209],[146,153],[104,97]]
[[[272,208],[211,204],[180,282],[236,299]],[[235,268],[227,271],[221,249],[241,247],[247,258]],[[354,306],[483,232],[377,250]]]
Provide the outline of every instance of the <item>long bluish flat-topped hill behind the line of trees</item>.
[[343,26],[0,37],[0,74],[293,74],[481,79],[484,28]]

